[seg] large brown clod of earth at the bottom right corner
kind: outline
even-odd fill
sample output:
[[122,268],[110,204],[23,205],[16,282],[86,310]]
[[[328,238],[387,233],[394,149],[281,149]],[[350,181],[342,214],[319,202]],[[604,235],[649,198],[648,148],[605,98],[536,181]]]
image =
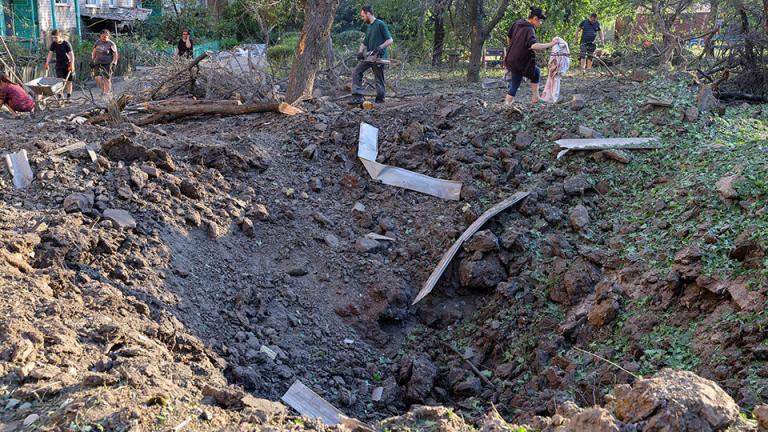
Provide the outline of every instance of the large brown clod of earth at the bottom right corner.
[[644,422],[643,430],[720,431],[739,417],[739,407],[716,383],[688,371],[662,369],[631,388],[614,390],[616,417]]

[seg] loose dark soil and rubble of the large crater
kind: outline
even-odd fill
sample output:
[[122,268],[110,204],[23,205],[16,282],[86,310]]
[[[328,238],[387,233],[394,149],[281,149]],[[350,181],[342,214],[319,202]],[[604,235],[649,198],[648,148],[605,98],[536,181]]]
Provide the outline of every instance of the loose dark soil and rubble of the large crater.
[[[685,77],[567,79],[565,102],[524,114],[495,90],[407,86],[373,110],[322,97],[296,117],[76,126],[73,106],[3,119],[0,146],[26,149],[35,180],[0,180],[0,430],[30,416],[50,430],[324,429],[269,402],[297,379],[389,430],[502,417],[542,429],[558,415],[641,424],[647,415],[611,405],[632,394],[617,386],[663,367],[716,381],[722,406],[768,397],[766,192],[753,180],[766,167],[731,150],[707,174],[736,175],[730,197],[686,174],[714,163],[690,143],[722,120],[681,120],[696,95]],[[642,110],[660,87],[675,106]],[[582,110],[568,103],[577,93]],[[764,112],[733,109],[729,121]],[[361,122],[381,130],[380,162],[462,181],[461,201],[371,181],[356,159]],[[555,161],[553,140],[581,125],[660,135],[665,148],[626,165],[610,152]],[[50,154],[79,142],[95,163],[82,149]],[[520,190],[531,195],[411,306],[461,232]],[[453,410],[385,420],[412,405]],[[733,424],[738,408],[726,411],[708,427]]]

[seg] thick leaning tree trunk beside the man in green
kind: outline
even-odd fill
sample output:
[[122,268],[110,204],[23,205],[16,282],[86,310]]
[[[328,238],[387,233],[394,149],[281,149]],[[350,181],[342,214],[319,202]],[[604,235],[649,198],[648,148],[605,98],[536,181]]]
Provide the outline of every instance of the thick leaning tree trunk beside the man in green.
[[305,0],[304,26],[301,29],[296,58],[288,78],[286,100],[293,103],[302,97],[312,96],[315,75],[327,49],[333,16],[340,0]]

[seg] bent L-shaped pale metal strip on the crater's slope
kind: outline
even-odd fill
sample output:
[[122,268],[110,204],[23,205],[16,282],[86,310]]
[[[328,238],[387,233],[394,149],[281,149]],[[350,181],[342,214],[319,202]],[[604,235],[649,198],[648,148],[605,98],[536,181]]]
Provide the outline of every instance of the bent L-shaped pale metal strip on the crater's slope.
[[360,124],[360,144],[357,157],[365,166],[372,179],[386,185],[397,186],[447,200],[458,201],[461,182],[440,180],[402,168],[376,162],[379,155],[379,130],[367,123]]

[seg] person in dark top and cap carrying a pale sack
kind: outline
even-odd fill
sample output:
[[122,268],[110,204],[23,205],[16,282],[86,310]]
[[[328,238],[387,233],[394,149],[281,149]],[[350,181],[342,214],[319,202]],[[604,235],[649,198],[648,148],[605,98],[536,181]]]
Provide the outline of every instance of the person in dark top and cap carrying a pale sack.
[[536,27],[540,27],[545,19],[547,17],[541,8],[532,7],[528,19],[515,21],[507,33],[507,54],[504,57],[504,66],[508,71],[506,79],[509,82],[507,97],[504,99],[507,105],[514,103],[523,78],[531,80],[531,103],[539,101],[541,70],[536,66],[534,50],[549,49],[557,43],[557,38],[549,43],[536,41]]

